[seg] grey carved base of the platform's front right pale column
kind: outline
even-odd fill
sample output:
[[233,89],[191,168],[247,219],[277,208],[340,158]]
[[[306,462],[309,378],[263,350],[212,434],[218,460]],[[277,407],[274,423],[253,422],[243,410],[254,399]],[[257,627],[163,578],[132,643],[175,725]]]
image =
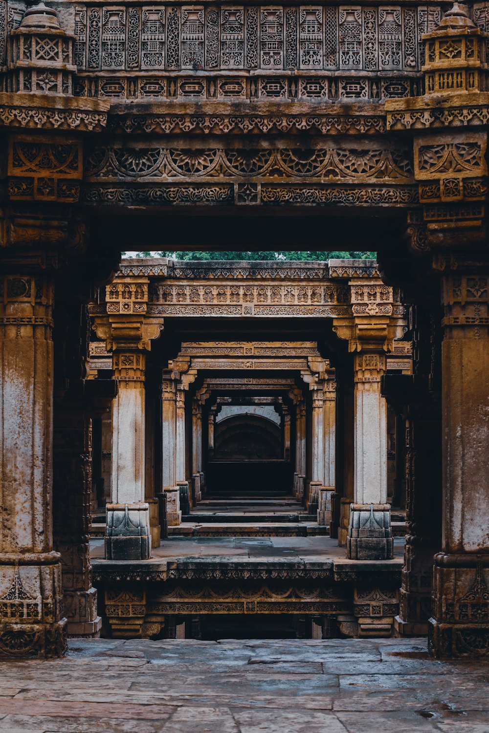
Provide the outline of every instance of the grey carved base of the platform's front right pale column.
[[350,560],[394,557],[389,504],[351,504],[347,557]]

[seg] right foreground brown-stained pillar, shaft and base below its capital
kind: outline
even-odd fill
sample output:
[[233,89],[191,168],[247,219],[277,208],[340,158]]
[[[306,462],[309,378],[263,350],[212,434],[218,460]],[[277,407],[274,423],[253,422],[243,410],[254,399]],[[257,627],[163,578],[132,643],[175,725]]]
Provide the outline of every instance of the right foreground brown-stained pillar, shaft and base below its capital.
[[442,278],[443,531],[430,619],[439,657],[489,654],[488,273],[486,263]]

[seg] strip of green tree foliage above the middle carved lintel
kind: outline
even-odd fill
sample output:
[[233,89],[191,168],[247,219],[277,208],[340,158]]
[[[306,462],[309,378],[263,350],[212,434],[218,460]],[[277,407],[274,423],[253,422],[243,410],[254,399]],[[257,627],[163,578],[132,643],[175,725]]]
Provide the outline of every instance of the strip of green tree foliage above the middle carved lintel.
[[241,259],[250,262],[257,262],[262,259],[274,260],[315,260],[324,262],[327,259],[375,259],[375,252],[243,252],[239,251],[181,251],[181,252],[122,252],[122,256],[132,257],[169,257],[169,259],[203,259],[203,260],[231,260]]

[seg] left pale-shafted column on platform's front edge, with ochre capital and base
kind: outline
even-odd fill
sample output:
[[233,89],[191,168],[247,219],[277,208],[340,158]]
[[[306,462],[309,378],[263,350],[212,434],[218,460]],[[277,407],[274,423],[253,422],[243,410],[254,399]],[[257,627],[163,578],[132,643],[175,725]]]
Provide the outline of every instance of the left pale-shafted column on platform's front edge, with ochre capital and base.
[[146,352],[163,320],[148,317],[148,279],[117,276],[106,286],[106,316],[95,317],[99,338],[113,352],[118,394],[112,405],[111,503],[107,504],[106,558],[151,554],[150,507],[145,499]]

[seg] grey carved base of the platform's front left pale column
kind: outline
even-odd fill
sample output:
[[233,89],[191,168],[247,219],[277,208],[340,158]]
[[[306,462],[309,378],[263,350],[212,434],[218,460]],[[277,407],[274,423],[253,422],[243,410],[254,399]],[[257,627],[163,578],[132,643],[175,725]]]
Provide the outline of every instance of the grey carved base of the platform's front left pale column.
[[148,504],[107,504],[106,559],[147,560],[151,556]]

